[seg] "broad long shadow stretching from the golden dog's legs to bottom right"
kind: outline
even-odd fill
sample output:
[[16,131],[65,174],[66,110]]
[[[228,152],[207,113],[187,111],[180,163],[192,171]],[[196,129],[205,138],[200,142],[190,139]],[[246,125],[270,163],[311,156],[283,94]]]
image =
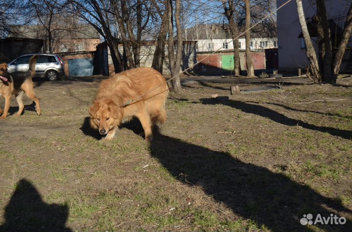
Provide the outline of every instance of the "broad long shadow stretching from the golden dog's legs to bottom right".
[[[284,174],[242,162],[225,152],[212,151],[154,130],[154,156],[176,179],[223,202],[234,213],[273,232],[312,231],[300,223],[304,214],[346,217],[343,225],[316,225],[329,231],[351,231],[351,210]],[[343,222],[343,221],[341,221]]]

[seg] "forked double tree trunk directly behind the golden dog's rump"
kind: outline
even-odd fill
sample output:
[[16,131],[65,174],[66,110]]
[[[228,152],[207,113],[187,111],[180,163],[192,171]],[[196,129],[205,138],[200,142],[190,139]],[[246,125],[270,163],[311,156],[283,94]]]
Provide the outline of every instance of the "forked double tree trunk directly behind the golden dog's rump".
[[175,22],[176,22],[176,31],[177,31],[177,46],[175,54],[175,41],[174,41],[174,25],[173,25],[173,9],[172,9],[172,0],[167,0],[167,12],[168,12],[168,52],[169,52],[169,62],[170,62],[170,71],[171,77],[171,88],[174,92],[180,93],[182,91],[181,83],[179,79],[179,69],[181,65],[182,58],[182,28],[179,20],[180,17],[180,0],[176,0],[175,8]]

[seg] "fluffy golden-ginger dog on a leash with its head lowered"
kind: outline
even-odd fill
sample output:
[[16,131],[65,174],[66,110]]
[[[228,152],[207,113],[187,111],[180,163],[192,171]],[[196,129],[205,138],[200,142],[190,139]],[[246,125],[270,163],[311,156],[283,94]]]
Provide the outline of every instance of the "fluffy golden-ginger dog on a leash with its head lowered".
[[[145,139],[151,141],[153,125],[166,120],[168,94],[165,78],[152,68],[135,68],[114,74],[101,83],[94,104],[89,108],[90,125],[110,140],[121,122],[135,116],[142,124]],[[124,106],[130,100],[134,101]]]

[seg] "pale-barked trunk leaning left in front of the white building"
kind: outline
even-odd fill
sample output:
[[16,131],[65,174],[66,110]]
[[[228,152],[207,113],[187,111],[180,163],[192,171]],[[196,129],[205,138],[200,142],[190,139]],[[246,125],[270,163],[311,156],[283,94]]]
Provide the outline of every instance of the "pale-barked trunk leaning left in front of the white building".
[[308,28],[307,28],[307,22],[306,18],[304,15],[303,11],[303,5],[302,5],[302,0],[296,0],[296,5],[297,5],[297,12],[298,12],[298,19],[301,24],[301,29],[302,29],[302,34],[303,38],[306,43],[306,55],[308,57],[309,61],[309,66],[310,69],[312,70],[313,76],[312,80],[314,82],[321,82],[321,75],[320,75],[320,70],[319,70],[319,65],[318,65],[318,59],[313,47],[313,43],[310,39]]

